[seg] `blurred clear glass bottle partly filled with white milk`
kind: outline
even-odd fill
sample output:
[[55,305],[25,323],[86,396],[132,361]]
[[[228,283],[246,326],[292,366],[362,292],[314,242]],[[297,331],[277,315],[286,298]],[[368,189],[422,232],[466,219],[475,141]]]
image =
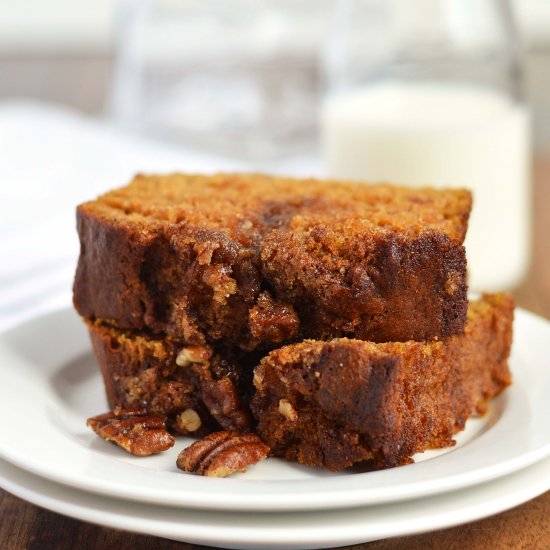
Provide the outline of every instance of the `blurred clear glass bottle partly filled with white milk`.
[[329,175],[472,190],[470,288],[530,253],[530,131],[504,0],[341,0],[326,53]]

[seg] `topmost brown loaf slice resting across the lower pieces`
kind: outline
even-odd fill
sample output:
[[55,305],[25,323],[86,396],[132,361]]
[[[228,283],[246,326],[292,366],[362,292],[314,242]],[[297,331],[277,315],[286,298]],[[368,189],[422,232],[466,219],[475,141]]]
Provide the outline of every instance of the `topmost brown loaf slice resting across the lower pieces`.
[[74,303],[188,345],[460,334],[465,190],[261,175],[137,176],[78,207]]

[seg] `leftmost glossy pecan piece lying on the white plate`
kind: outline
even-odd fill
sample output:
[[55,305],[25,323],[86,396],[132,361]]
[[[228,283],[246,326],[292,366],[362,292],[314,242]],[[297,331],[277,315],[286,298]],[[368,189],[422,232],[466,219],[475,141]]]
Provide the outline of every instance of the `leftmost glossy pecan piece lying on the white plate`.
[[136,456],[160,453],[174,445],[164,418],[152,416],[145,409],[116,407],[112,412],[88,418],[86,424],[103,439]]

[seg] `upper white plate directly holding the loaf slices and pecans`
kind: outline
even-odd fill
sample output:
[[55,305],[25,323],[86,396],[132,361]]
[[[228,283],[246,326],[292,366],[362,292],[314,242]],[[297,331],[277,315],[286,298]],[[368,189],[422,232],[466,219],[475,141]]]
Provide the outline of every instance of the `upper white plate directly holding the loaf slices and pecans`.
[[177,470],[188,440],[136,458],[98,438],[86,418],[106,409],[81,321],[70,310],[0,337],[0,456],[40,476],[142,502],[225,510],[312,510],[418,498],[495,479],[550,454],[550,323],[518,311],[514,384],[459,444],[417,464],[330,474],[269,459],[244,475],[209,479]]

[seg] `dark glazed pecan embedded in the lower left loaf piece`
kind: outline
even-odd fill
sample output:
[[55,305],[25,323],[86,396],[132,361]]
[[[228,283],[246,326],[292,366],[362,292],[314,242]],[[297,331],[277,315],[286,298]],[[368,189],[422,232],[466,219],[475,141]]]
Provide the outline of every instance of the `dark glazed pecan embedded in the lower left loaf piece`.
[[211,377],[203,376],[201,397],[210,414],[222,428],[239,432],[250,430],[250,414],[242,406],[237,388],[228,377],[213,380]]

